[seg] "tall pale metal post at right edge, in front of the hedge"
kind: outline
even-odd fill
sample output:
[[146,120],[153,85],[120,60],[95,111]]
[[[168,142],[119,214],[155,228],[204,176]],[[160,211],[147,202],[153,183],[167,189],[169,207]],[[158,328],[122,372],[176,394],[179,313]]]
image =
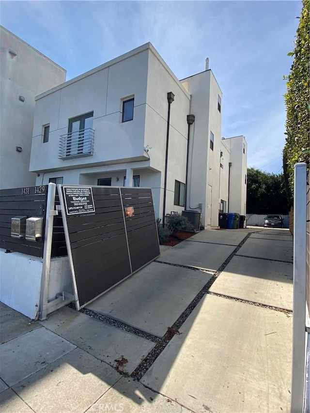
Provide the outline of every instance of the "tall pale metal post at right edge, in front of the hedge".
[[294,291],[291,412],[303,412],[306,346],[307,166],[294,168]]

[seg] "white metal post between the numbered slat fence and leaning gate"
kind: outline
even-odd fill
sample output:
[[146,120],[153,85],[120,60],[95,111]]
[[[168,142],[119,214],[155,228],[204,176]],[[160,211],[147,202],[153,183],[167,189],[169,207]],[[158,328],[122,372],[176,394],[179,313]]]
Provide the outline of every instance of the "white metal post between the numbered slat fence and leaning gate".
[[43,268],[41,276],[41,297],[40,297],[40,320],[47,318],[48,284],[50,270],[50,256],[52,250],[53,222],[55,211],[56,184],[48,184],[47,191],[47,216],[44,235]]

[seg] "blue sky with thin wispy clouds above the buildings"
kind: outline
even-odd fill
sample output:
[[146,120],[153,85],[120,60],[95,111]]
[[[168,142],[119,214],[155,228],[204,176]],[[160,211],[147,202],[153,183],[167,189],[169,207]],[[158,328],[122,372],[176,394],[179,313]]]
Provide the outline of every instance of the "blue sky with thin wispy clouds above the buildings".
[[222,136],[245,135],[248,167],[282,171],[283,94],[301,1],[1,1],[0,23],[67,70],[67,80],[146,42],[174,74],[223,92]]

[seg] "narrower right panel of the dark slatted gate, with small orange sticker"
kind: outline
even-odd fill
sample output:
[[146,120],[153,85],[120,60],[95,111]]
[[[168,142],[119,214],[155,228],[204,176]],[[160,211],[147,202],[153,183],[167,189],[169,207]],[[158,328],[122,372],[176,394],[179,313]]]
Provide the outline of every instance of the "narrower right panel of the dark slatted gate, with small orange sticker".
[[[159,256],[152,191],[149,188],[121,188],[132,271]],[[130,215],[126,216],[126,209]]]

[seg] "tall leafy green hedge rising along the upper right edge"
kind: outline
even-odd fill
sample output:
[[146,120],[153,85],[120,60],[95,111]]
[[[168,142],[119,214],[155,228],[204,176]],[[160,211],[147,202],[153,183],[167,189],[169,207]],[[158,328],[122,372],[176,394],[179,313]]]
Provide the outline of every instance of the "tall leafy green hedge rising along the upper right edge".
[[294,62],[284,95],[286,104],[286,143],[283,150],[283,171],[292,198],[294,189],[294,164],[306,162],[309,171],[309,7],[310,0],[303,0],[303,8],[296,33],[295,48],[288,53]]

